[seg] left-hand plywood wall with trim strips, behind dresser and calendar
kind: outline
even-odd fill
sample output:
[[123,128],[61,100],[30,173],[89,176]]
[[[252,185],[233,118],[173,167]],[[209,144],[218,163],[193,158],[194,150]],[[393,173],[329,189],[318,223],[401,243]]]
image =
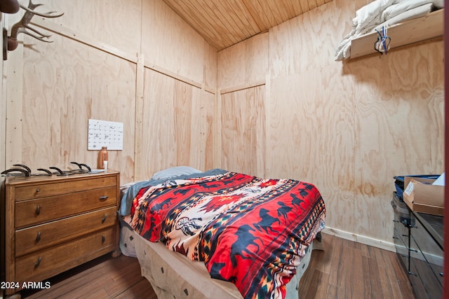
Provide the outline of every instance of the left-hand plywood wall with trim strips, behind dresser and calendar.
[[65,15],[32,21],[53,43],[21,36],[8,55],[6,168],[96,168],[90,118],[123,123],[123,151],[109,153],[121,183],[213,167],[217,54],[199,34],[161,0],[41,3]]

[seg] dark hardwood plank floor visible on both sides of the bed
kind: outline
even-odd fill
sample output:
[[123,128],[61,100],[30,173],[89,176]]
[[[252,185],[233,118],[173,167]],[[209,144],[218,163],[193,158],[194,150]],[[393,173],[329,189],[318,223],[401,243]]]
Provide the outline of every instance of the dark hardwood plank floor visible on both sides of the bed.
[[[300,298],[414,298],[396,253],[323,234],[300,283]],[[156,299],[136,258],[102,256],[50,280],[22,298]]]

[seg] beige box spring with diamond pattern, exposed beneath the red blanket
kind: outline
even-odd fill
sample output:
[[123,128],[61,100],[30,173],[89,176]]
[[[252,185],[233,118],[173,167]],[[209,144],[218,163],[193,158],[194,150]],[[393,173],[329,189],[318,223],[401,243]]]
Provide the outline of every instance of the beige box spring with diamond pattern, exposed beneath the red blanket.
[[[161,242],[149,242],[128,225],[121,226],[121,252],[138,258],[142,276],[152,285],[158,299],[241,299],[236,286],[229,281],[210,277],[204,263],[189,260],[180,253],[169,251]],[[313,250],[323,250],[315,240],[302,258],[297,274],[287,284],[286,299],[297,299],[300,279],[310,263]]]

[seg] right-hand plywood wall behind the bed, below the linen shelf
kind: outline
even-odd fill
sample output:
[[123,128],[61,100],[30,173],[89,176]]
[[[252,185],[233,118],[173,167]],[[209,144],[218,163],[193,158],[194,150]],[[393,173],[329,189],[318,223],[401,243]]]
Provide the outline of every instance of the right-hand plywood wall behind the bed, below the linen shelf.
[[[314,183],[330,232],[391,249],[393,176],[443,172],[443,41],[335,62],[336,46],[367,2],[331,1],[219,52],[217,84],[231,91],[220,98],[222,117],[234,113],[233,123],[222,120],[221,140],[224,149],[248,148],[252,139],[242,133],[227,145],[227,136],[250,131],[234,123],[255,119],[236,107],[263,107],[257,137],[265,144],[237,155],[251,161],[243,168]],[[267,68],[254,76],[256,66]],[[223,168],[238,166],[223,155]]]

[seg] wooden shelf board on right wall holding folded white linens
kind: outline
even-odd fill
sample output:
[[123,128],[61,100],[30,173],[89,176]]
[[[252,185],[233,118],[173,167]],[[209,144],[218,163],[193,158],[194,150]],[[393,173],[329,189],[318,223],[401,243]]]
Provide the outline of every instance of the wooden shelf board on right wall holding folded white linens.
[[[388,27],[391,37],[390,50],[443,36],[444,9],[429,13],[422,18],[408,20]],[[364,34],[351,41],[351,58],[377,53],[374,43],[377,41],[377,32]]]

